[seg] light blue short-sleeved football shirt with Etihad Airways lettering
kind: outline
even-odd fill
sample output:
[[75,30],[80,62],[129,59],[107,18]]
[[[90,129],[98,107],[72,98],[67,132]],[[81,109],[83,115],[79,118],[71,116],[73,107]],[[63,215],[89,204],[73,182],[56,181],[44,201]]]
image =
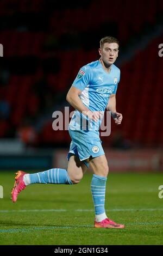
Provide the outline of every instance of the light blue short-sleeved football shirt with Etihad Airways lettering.
[[[111,94],[116,94],[117,85],[120,82],[120,69],[111,65],[110,73],[106,72],[99,60],[83,66],[74,80],[72,86],[81,90],[80,99],[90,111],[105,111]],[[77,118],[79,117],[79,118]],[[70,128],[82,129],[79,119],[86,118],[77,109],[74,111],[70,122]],[[99,126],[102,120],[95,125]],[[74,129],[75,130],[75,129]]]

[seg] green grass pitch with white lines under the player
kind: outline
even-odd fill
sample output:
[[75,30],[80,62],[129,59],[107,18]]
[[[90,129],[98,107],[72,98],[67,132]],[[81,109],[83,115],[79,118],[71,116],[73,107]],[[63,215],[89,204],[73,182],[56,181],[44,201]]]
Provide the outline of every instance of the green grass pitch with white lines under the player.
[[0,245],[162,245],[163,174],[110,173],[105,209],[125,229],[93,228],[92,174],[77,185],[35,184],[10,199],[14,172],[0,172]]

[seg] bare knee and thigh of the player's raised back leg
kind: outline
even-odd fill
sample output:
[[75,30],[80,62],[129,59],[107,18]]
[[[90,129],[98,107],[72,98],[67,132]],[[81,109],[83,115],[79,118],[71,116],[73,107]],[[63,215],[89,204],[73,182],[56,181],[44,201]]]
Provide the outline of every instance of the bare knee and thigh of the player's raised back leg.
[[73,183],[78,183],[86,172],[87,167],[83,161],[80,161],[76,155],[70,156],[67,172]]

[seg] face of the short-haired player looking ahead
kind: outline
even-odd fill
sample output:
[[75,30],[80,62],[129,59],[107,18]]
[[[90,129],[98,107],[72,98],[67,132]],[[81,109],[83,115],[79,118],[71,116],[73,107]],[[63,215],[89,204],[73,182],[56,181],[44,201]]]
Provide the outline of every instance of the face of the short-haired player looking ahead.
[[99,55],[101,55],[101,58],[105,64],[113,64],[118,57],[118,44],[116,42],[112,42],[111,44],[105,42],[103,47],[99,48]]

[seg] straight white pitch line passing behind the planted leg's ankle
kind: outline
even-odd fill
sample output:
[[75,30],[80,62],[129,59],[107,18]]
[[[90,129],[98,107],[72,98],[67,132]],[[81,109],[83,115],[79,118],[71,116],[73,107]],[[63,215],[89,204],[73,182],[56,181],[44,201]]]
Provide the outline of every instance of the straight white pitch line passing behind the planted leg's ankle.
[[[0,210],[0,213],[14,213],[14,212],[66,212],[66,211],[94,211],[94,209],[76,209],[76,210],[68,210],[68,209],[22,209],[22,210]],[[163,211],[163,208],[147,208],[147,209],[109,209],[106,211]]]

